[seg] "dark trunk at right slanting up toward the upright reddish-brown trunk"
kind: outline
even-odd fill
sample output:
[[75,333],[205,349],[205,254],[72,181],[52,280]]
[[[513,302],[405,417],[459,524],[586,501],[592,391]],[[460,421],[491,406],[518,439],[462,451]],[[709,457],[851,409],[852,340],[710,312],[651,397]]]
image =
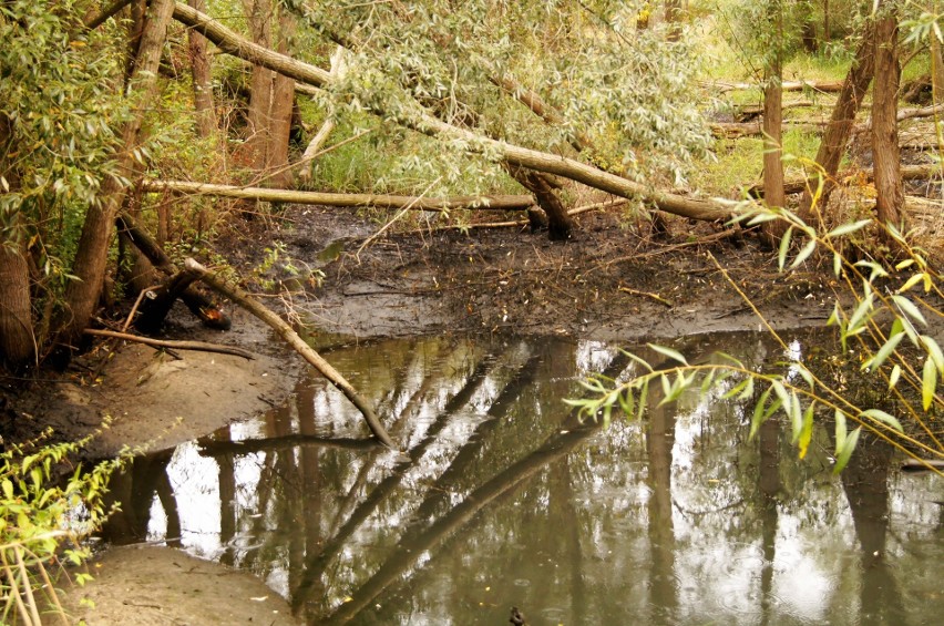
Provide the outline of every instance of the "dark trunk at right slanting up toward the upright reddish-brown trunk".
[[822,176],[822,194],[815,206],[813,206],[813,193],[810,188],[803,193],[803,197],[800,199],[799,215],[808,224],[813,220],[820,222],[825,215],[825,207],[834,187],[835,174],[839,171],[839,162],[845,152],[849,136],[852,134],[855,113],[865,99],[869,83],[872,82],[875,66],[874,41],[874,24],[869,23],[865,25],[865,32],[862,34],[862,42],[855,52],[855,59],[849,68],[849,73],[845,74],[842,90],[839,92],[839,99],[835,101],[832,116],[817,152],[817,165],[822,170],[812,174],[810,186],[811,189],[815,189],[819,186],[819,177]]

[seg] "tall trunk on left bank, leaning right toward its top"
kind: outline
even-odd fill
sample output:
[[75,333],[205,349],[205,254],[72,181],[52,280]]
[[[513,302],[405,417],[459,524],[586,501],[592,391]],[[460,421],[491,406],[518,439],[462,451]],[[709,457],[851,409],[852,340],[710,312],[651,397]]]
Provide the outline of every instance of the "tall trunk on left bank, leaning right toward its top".
[[[141,103],[153,102],[157,88],[157,65],[161,51],[167,38],[167,24],[174,12],[173,0],[154,0],[148,10],[147,23],[141,38],[141,47],[131,78],[130,86]],[[117,156],[117,170],[122,173],[133,171],[134,148],[144,119],[144,111],[138,110],[125,123],[122,130],[122,152]],[[89,325],[92,311],[102,294],[102,280],[109,257],[109,246],[114,233],[115,216],[124,201],[125,188],[121,181],[109,177],[102,184],[101,202],[91,205],[82,225],[79,248],[73,261],[72,274],[78,280],[72,280],[65,290],[68,318],[61,320],[61,339],[66,342],[75,341]]]

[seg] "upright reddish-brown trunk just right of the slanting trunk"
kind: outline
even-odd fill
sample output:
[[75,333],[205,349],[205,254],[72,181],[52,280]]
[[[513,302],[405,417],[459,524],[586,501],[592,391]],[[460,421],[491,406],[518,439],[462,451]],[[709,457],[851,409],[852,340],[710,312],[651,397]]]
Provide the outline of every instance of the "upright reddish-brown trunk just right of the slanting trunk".
[[[899,23],[894,2],[883,2],[875,22],[875,89],[872,94],[872,154],[875,213],[882,224],[901,226],[904,206],[899,147]],[[891,239],[887,239],[891,243]]]

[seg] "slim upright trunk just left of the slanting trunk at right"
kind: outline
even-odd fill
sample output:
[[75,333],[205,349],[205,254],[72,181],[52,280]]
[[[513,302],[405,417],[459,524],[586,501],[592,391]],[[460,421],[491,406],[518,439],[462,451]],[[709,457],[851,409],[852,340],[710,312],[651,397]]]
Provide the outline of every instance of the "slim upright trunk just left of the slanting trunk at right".
[[[773,29],[773,47],[770,58],[763,65],[763,198],[767,206],[783,207],[787,196],[783,194],[783,89],[781,84],[783,69],[783,11],[780,0],[770,3],[769,16]],[[763,238],[776,245],[786,230],[779,219],[765,222],[761,226]]]

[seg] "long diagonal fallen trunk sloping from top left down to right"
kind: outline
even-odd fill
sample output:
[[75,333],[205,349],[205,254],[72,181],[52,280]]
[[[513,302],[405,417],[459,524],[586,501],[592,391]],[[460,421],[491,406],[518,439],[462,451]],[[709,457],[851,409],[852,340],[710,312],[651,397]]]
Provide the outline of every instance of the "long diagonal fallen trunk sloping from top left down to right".
[[[186,4],[177,2],[174,10],[174,18],[185,25],[197,30],[224,52],[264,65],[296,81],[302,81],[315,86],[326,88],[334,82],[329,72],[252,43],[219,22]],[[382,109],[376,107],[372,112],[377,115],[389,117],[389,112]],[[656,208],[683,217],[716,222],[727,220],[733,216],[733,209],[729,204],[650,189],[639,183],[627,181],[626,178],[572,158],[492,140],[479,133],[437,120],[425,113],[419,104],[417,104],[415,111],[410,112],[404,110],[398,114],[397,122],[404,127],[425,135],[447,140],[450,143],[461,143],[464,150],[470,153],[501,157],[512,165],[536,170],[546,174],[556,174],[614,195],[628,198],[639,197],[655,205]]]

